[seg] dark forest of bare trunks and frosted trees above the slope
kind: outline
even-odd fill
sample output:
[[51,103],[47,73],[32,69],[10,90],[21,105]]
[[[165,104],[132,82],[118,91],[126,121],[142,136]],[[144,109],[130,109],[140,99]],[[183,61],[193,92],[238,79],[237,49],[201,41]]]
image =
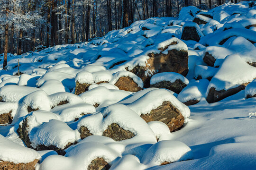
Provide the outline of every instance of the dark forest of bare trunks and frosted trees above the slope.
[[[0,54],[90,41],[150,17],[178,17],[184,6],[209,10],[227,0],[1,0]],[[238,3],[239,0],[231,0]],[[4,64],[5,65],[5,64]]]

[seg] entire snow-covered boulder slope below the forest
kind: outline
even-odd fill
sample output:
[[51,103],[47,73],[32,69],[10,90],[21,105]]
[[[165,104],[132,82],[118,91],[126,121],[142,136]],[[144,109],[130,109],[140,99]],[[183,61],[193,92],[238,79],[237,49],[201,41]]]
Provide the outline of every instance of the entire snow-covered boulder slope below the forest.
[[0,59],[0,170],[256,169],[256,1]]

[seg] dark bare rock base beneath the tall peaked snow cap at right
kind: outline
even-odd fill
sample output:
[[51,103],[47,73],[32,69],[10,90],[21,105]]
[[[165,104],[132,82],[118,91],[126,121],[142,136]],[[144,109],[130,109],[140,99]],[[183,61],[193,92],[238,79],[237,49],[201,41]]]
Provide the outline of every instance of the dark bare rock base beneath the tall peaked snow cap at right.
[[209,103],[218,102],[226,97],[229,97],[233,94],[240,92],[241,90],[244,90],[248,84],[249,83],[245,83],[245,84],[239,85],[238,87],[231,88],[229,90],[220,90],[220,91],[217,91],[214,87],[211,87],[206,100]]

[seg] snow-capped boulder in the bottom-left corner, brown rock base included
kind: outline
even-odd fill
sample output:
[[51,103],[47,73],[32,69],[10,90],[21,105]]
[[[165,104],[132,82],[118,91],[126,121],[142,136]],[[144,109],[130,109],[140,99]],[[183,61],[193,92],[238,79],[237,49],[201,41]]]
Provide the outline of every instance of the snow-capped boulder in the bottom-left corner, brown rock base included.
[[16,144],[0,135],[1,170],[35,170],[41,159],[37,151]]

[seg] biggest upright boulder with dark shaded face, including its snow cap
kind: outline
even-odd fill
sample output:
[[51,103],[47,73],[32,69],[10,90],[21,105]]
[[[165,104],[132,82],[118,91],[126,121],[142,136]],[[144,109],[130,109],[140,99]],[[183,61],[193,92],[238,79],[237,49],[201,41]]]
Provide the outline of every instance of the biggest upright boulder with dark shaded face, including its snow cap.
[[156,73],[176,72],[183,76],[187,75],[188,52],[184,42],[174,37],[156,45],[156,48],[159,53],[148,53],[149,59],[146,60],[145,66],[127,68],[142,79],[144,87],[150,86],[150,77]]

